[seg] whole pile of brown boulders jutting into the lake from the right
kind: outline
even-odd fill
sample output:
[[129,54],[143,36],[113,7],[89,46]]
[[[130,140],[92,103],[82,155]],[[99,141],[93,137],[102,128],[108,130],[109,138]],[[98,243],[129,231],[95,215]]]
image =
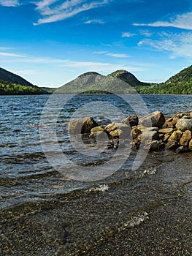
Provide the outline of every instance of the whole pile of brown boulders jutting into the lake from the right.
[[192,110],[177,113],[172,118],[164,118],[160,111],[143,118],[128,116],[120,123],[99,126],[92,117],[69,122],[70,132],[88,135],[99,140],[107,138],[107,148],[115,148],[130,143],[133,150],[144,146],[150,151],[166,149],[177,153],[192,151]]

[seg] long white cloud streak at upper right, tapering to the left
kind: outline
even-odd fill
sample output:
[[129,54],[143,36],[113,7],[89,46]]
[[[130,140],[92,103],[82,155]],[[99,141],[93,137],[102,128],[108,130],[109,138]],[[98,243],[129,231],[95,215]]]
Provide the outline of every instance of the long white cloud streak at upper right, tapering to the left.
[[176,15],[169,21],[156,21],[154,23],[134,23],[134,26],[174,27],[177,29],[192,30],[192,12]]

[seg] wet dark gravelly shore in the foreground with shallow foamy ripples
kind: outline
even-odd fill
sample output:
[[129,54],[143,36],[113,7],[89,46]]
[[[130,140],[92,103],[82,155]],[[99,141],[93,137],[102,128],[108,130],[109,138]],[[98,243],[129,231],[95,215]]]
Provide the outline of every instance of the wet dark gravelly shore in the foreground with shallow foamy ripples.
[[192,255],[191,160],[1,212],[1,255]]

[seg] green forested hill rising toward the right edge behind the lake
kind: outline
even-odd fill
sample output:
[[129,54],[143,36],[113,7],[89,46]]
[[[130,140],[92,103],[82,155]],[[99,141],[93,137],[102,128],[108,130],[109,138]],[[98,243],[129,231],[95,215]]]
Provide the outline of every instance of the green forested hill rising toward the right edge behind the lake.
[[140,94],[192,94],[192,66],[183,69],[166,82],[138,87]]

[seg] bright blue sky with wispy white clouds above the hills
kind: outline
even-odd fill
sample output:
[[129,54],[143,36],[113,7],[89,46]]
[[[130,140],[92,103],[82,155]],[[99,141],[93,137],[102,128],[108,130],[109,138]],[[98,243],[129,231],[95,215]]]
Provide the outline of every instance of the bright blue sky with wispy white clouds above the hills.
[[0,67],[37,86],[126,69],[164,82],[192,64],[191,0],[0,0]]

